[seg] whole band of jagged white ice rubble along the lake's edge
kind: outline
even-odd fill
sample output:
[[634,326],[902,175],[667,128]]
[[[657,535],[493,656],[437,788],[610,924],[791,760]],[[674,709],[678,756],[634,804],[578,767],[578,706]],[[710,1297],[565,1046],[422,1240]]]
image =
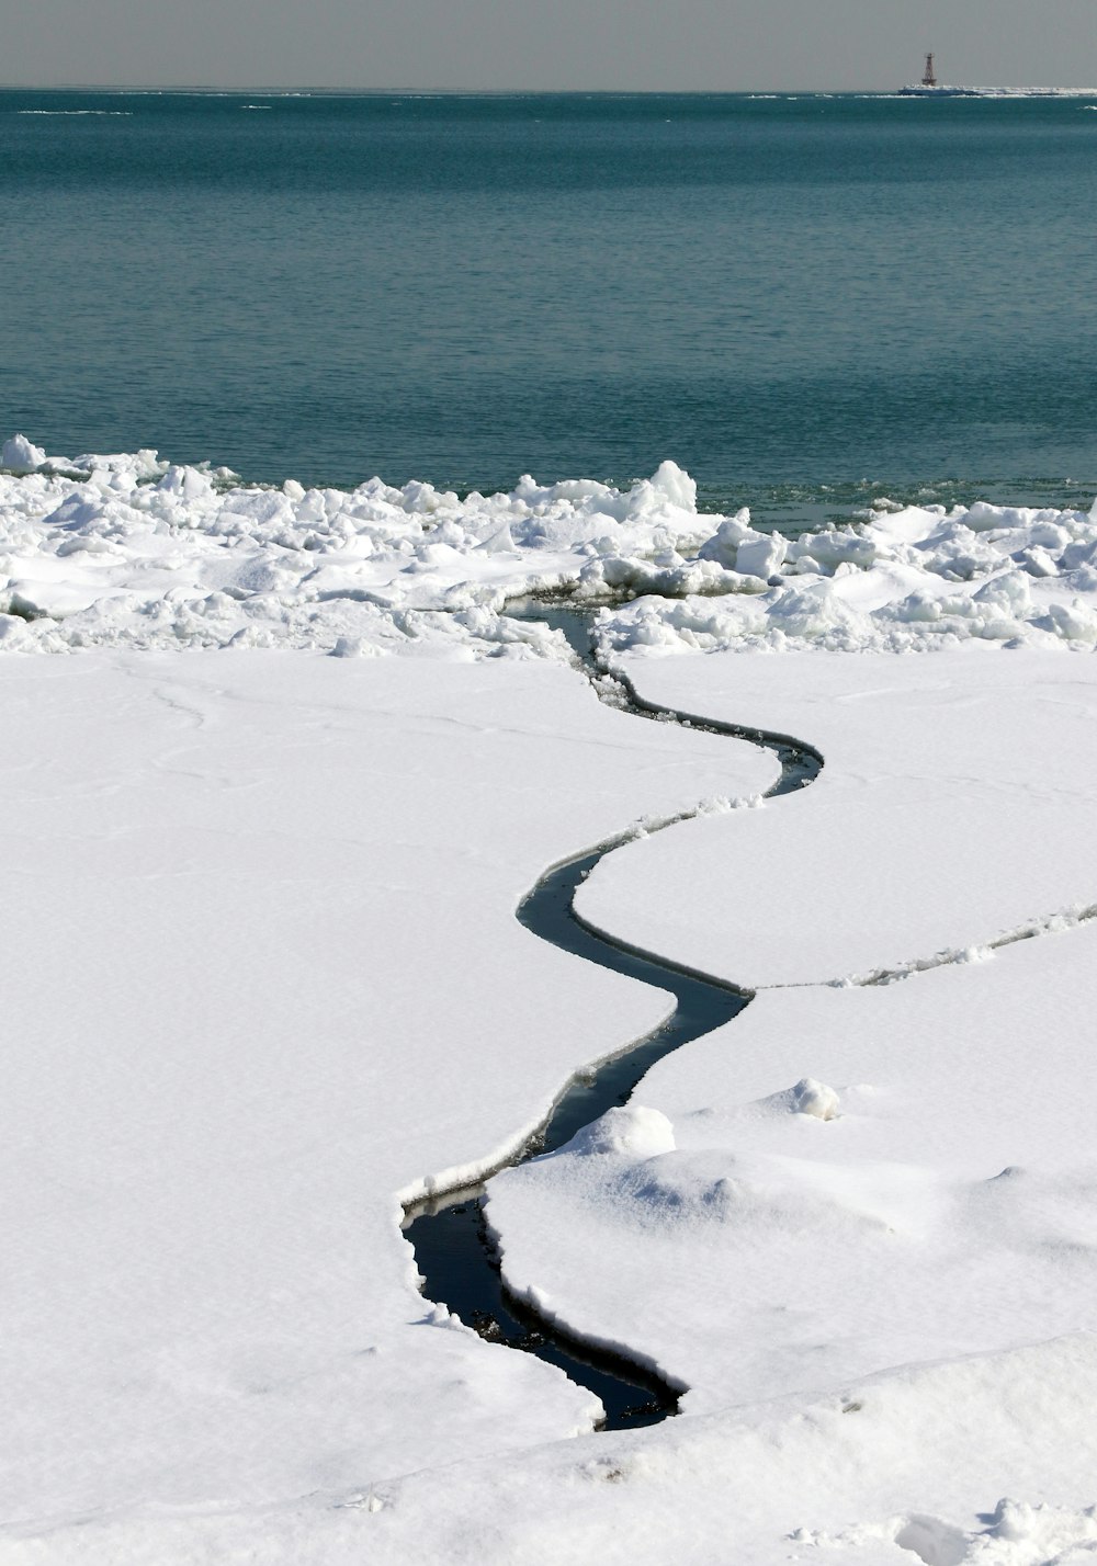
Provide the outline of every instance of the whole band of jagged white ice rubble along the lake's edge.
[[906,506],[796,539],[697,512],[672,462],[630,490],[588,479],[461,500],[429,484],[248,487],[155,451],[0,451],[0,647],[313,647],[555,656],[501,614],[602,606],[606,650],[907,651],[1097,644],[1091,512]]

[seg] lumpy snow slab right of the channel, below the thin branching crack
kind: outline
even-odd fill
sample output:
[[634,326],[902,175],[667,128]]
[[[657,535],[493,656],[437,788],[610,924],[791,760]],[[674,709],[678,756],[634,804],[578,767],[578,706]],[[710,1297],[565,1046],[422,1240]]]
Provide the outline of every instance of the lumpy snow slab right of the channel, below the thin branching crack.
[[686,1414],[1089,1330],[1095,1012],[1094,927],[762,991],[617,1112],[657,1145],[594,1128],[492,1181],[505,1276],[685,1383]]

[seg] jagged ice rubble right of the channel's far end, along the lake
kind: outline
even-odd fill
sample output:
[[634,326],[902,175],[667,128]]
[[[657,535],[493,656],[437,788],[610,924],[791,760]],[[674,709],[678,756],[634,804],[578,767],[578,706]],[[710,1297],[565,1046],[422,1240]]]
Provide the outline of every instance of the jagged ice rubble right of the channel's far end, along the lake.
[[749,573],[755,590],[694,589],[603,614],[603,653],[1097,642],[1097,511],[978,501],[945,512],[879,501],[862,521],[790,542],[754,532],[740,512],[718,523],[699,554]]

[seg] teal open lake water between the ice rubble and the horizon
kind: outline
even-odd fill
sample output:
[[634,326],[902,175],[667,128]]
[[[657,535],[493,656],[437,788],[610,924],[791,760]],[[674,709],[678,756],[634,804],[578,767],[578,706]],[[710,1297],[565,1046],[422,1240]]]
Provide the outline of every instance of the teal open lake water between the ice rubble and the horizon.
[[1088,506],[1094,106],[3,92],[0,434]]

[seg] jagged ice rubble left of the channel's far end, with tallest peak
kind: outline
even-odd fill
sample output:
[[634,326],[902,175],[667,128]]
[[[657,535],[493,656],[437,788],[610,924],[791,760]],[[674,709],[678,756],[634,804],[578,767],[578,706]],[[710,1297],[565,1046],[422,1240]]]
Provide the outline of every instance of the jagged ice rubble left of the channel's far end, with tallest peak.
[[[370,479],[351,492],[244,487],[155,451],[47,459],[0,449],[0,647],[312,647],[340,656],[559,656],[517,595],[605,595],[683,565],[711,532],[672,462],[630,490],[592,481],[469,495]],[[718,518],[716,518],[718,520]],[[688,573],[686,573],[688,575]],[[740,578],[701,564],[690,586]],[[755,583],[755,586],[762,586]]]

